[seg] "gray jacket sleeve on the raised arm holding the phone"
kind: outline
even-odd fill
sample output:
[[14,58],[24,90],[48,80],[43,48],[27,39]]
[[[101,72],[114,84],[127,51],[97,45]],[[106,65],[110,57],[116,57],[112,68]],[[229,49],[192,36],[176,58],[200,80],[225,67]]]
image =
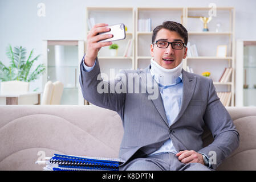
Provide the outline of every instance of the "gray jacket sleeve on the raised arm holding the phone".
[[[92,104],[110,109],[120,111],[124,107],[125,92],[115,92],[116,85],[119,85],[119,89],[125,89],[121,77],[116,77],[113,81],[103,81],[100,75],[99,61],[95,60],[94,68],[90,72],[84,70],[83,61],[80,64],[80,76],[79,82],[82,89],[83,97]],[[124,72],[119,75],[124,76]]]

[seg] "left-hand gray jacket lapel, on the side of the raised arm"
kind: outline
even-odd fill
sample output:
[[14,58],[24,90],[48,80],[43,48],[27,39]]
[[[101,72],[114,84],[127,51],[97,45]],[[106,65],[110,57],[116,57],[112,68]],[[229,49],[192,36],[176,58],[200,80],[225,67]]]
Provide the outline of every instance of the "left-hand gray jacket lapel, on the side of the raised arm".
[[147,74],[151,75],[151,72],[149,71],[149,69],[150,69],[150,65],[147,68],[145,68],[142,72],[138,72],[141,77],[141,86],[143,86],[145,88],[146,93],[150,97],[148,90],[147,90],[147,79],[146,78],[151,78],[151,81],[155,83],[154,85],[157,85],[157,89],[155,89],[155,90],[157,90],[157,92],[158,92],[158,97],[157,97],[157,99],[151,99],[151,101],[155,105],[157,111],[159,111],[159,114],[161,115],[162,119],[164,119],[164,122],[166,123],[166,125],[169,127],[168,120],[166,118],[166,114],[165,114],[165,110],[164,110],[164,104],[162,103],[162,97],[159,92],[158,84],[152,76],[147,77]]

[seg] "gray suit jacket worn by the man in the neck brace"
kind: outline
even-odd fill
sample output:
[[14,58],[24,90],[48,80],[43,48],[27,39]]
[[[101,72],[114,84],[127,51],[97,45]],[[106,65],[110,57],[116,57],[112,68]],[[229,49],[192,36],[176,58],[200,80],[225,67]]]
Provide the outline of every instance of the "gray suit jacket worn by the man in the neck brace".
[[[126,163],[151,154],[169,138],[176,151],[194,150],[208,155],[214,169],[238,147],[238,131],[220,102],[212,79],[182,70],[181,110],[173,124],[169,126],[158,87],[156,98],[151,98],[153,94],[147,89],[148,85],[151,88],[157,85],[152,76],[145,76],[150,74],[150,65],[144,70],[121,71],[123,76],[117,77],[112,84],[118,85],[123,93],[113,92],[111,82],[97,80],[100,74],[97,59],[92,71],[84,72],[82,67],[81,64],[79,81],[84,99],[94,105],[115,110],[123,121],[124,136],[119,157]],[[131,74],[134,82],[128,84],[125,76],[128,78]],[[152,86],[150,81],[153,83]],[[108,93],[98,93],[98,84],[105,86]],[[139,93],[135,93],[136,84],[140,87]],[[156,96],[156,93],[154,94]],[[211,131],[214,138],[208,146],[203,146],[202,143],[205,127]]]

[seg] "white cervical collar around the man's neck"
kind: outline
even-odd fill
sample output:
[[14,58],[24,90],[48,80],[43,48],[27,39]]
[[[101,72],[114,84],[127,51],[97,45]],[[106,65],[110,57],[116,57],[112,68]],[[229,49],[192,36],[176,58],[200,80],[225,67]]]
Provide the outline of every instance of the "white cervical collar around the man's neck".
[[165,69],[161,67],[158,63],[156,63],[156,61],[152,57],[150,71],[152,75],[155,75],[155,80],[159,84],[164,86],[171,85],[171,84],[174,84],[176,81],[176,78],[181,75],[182,63],[183,61],[181,61],[181,63],[176,68]]

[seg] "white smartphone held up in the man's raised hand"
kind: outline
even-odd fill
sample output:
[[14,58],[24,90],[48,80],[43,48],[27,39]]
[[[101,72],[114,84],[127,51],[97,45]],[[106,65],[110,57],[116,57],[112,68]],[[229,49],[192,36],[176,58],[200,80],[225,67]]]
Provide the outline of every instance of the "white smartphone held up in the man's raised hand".
[[109,39],[100,40],[99,42],[112,42],[116,40],[123,40],[125,39],[125,26],[124,23],[114,24],[112,26],[108,26],[110,31],[102,32],[100,34],[112,34],[113,37]]

